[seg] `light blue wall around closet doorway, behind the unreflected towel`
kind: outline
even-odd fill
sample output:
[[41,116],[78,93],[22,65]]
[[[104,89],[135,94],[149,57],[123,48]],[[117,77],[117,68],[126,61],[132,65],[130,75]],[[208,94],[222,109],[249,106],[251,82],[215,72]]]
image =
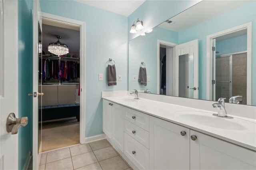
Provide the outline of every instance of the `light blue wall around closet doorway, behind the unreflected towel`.
[[[102,91],[127,90],[127,17],[72,0],[40,0],[42,12],[86,23],[86,137],[102,134]],[[44,32],[44,28],[42,28]],[[108,87],[106,62],[116,62],[122,81]],[[103,81],[98,74],[103,73]]]

